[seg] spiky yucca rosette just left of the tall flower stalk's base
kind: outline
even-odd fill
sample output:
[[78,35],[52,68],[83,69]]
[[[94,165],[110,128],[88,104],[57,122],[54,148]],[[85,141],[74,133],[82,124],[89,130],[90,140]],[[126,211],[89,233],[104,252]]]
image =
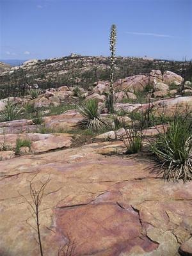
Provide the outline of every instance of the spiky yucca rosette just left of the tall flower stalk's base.
[[91,99],[84,102],[78,110],[83,116],[83,120],[77,123],[81,129],[91,129],[93,132],[97,132],[109,127],[108,121],[99,115],[97,100]]

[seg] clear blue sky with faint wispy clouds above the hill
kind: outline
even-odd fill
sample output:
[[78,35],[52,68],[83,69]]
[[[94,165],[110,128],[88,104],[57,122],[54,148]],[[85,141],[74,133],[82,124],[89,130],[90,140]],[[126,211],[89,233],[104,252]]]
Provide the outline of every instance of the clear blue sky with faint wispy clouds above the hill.
[[192,59],[192,0],[0,0],[0,59],[109,55]]

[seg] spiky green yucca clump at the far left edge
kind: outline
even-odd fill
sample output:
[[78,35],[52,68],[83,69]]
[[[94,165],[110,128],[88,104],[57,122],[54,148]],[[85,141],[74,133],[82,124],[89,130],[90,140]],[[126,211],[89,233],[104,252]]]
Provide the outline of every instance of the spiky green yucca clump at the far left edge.
[[8,122],[12,120],[17,120],[19,118],[21,109],[12,104],[9,100],[5,106],[5,108],[0,111],[0,120],[1,122]]

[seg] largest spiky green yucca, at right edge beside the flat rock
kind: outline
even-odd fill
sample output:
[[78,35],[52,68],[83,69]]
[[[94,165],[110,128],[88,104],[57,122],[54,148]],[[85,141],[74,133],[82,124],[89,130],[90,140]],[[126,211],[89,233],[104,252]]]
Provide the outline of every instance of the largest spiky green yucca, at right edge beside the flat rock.
[[170,122],[168,131],[150,142],[163,178],[173,181],[192,180],[192,132],[190,119]]

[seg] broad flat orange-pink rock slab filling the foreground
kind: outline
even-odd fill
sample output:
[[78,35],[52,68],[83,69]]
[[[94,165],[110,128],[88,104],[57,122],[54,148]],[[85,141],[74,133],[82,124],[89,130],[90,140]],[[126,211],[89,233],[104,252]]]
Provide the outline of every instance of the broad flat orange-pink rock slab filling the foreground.
[[[0,255],[40,255],[29,212],[29,180],[40,188],[44,255],[67,236],[75,255],[176,256],[192,232],[192,182],[164,182],[146,157],[99,154],[120,142],[93,143],[0,161]],[[26,200],[24,199],[26,198]]]

